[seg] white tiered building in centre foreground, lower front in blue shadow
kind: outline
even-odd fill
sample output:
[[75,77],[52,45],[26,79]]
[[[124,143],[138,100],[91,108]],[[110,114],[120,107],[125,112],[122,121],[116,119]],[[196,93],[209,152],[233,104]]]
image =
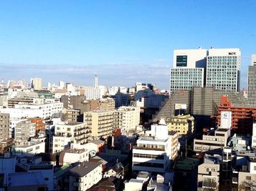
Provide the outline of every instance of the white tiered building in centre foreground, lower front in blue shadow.
[[146,134],[148,136],[138,139],[137,146],[133,147],[132,169],[136,172],[147,171],[164,174],[174,157],[171,147],[176,147],[172,145],[175,141],[171,141],[164,120],[161,120],[159,124],[153,124],[151,131]]

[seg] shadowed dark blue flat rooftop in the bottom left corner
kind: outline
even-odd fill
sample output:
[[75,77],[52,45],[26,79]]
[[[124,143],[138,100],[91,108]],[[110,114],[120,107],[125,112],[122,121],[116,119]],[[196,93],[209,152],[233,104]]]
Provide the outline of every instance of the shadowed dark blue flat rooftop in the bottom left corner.
[[8,187],[46,185],[41,172],[16,172],[9,174]]

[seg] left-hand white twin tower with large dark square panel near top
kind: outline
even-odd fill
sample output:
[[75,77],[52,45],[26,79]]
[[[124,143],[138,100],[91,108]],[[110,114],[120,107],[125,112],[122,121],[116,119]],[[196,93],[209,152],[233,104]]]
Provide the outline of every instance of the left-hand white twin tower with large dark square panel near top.
[[170,92],[204,87],[207,49],[174,50],[174,68],[170,69]]

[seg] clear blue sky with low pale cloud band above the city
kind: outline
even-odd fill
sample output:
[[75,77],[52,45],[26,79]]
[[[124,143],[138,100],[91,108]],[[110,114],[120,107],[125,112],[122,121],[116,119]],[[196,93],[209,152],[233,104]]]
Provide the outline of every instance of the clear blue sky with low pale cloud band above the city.
[[0,77],[169,87],[174,49],[256,54],[256,1],[0,1]]

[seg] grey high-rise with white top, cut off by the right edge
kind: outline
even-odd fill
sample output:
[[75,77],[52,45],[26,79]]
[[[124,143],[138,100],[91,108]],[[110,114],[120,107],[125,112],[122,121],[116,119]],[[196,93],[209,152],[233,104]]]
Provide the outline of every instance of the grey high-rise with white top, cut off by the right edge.
[[247,103],[256,107],[256,54],[252,55],[252,65],[248,69],[248,99]]

